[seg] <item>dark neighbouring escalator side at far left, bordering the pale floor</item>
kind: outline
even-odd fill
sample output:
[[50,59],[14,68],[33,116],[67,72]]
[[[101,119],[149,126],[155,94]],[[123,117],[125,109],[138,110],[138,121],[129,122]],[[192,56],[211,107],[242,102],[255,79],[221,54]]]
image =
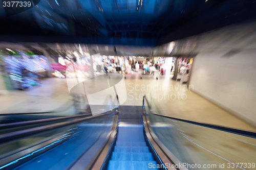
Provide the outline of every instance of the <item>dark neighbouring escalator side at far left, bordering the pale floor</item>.
[[58,111],[0,114],[0,138],[6,133],[92,116],[90,106],[80,103],[75,98],[72,103],[66,103]]

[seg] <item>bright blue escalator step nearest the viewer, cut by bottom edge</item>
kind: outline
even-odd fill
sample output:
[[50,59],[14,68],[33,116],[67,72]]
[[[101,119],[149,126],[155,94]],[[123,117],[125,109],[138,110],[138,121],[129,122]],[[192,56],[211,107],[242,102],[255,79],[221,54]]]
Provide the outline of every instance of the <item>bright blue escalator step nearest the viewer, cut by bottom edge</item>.
[[153,168],[157,166],[156,161],[117,161],[117,160],[110,160],[108,170],[146,170],[146,169],[158,169]]

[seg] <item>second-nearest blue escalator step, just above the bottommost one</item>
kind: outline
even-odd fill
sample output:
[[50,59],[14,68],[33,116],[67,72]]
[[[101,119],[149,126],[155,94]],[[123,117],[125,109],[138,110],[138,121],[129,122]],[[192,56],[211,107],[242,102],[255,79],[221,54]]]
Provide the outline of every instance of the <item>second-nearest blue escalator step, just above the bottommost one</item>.
[[154,161],[151,153],[113,152],[111,160]]

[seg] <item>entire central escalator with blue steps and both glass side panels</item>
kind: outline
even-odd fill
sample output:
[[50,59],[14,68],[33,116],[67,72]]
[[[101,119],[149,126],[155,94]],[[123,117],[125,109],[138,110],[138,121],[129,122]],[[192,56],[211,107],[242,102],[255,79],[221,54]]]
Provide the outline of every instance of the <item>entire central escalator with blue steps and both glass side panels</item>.
[[[0,169],[255,168],[255,132],[168,117],[152,99],[76,121],[4,143],[23,140],[24,149],[0,157]],[[30,138],[38,140],[26,147]]]

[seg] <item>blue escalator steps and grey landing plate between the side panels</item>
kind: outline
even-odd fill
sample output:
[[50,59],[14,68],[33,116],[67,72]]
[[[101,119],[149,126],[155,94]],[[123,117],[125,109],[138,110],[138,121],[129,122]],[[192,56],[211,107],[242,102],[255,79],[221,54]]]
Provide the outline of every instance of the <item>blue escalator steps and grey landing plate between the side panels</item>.
[[141,106],[119,107],[117,140],[106,169],[147,169],[148,164],[157,164],[143,135],[141,113]]

